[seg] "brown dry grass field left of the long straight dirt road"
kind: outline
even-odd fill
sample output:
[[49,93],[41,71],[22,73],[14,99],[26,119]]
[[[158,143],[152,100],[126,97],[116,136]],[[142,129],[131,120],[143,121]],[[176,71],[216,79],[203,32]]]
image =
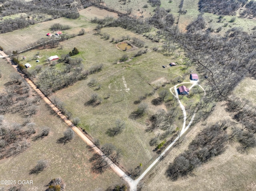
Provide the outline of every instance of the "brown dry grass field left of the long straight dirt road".
[[[5,65],[5,62],[1,66]],[[6,70],[6,71],[5,71]],[[3,71],[3,70],[2,70]],[[11,65],[5,65],[3,77],[1,78],[0,89],[3,89],[2,82],[7,82],[9,74],[15,72]],[[5,120],[9,123],[22,123],[24,120],[19,114],[6,114]],[[43,101],[40,102],[38,113],[32,117],[36,124],[37,131],[43,126],[50,127],[47,137],[33,142],[31,146],[11,158],[0,160],[1,180],[32,180],[33,185],[24,185],[26,191],[45,190],[45,185],[51,179],[61,177],[66,183],[66,190],[105,190],[112,184],[122,183],[121,179],[108,169],[102,174],[91,173],[92,152],[88,151],[86,143],[75,135],[74,139],[67,144],[56,143],[58,138],[63,136],[67,126],[60,118],[50,112]],[[48,161],[48,167],[38,175],[29,175],[36,162],[40,159]],[[7,190],[9,186],[0,185],[0,190]],[[90,189],[88,189],[90,188]]]

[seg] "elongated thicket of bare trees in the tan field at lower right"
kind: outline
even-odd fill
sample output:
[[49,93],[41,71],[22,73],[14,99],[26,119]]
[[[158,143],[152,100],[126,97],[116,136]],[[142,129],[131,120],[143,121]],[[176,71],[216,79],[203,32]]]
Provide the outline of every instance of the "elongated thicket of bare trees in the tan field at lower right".
[[166,175],[175,181],[190,174],[195,167],[224,152],[227,140],[228,135],[219,124],[204,128],[189,144],[188,150],[170,163]]

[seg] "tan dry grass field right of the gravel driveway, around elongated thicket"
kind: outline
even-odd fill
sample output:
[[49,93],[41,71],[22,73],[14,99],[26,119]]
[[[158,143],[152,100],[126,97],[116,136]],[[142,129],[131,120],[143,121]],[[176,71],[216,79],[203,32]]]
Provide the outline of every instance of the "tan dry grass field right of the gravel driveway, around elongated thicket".
[[[231,119],[226,112],[223,102],[217,104],[214,112],[207,119],[207,124],[212,124],[218,119]],[[220,156],[212,158],[193,171],[192,175],[171,181],[165,176],[168,164],[187,149],[188,144],[196,134],[205,126],[200,122],[192,127],[186,134],[186,141],[179,148],[174,148],[161,163],[144,180],[144,191],[254,191],[256,189],[255,156],[256,148],[248,154],[240,154],[236,151],[237,144],[227,144],[226,151]]]

